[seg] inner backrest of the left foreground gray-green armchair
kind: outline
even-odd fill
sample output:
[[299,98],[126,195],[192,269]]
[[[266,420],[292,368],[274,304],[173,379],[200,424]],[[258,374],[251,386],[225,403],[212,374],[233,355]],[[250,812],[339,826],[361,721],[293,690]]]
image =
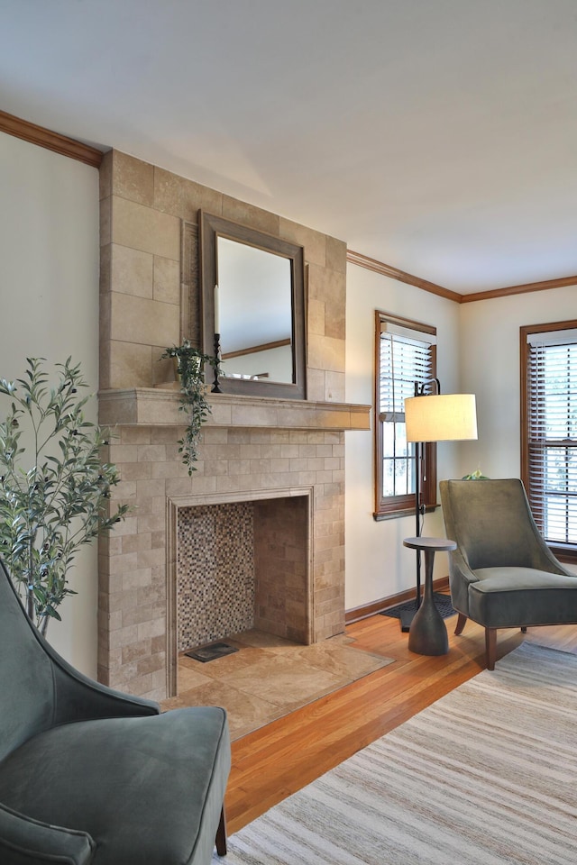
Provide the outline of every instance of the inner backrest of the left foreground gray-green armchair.
[[50,727],[53,707],[50,657],[0,561],[0,760]]

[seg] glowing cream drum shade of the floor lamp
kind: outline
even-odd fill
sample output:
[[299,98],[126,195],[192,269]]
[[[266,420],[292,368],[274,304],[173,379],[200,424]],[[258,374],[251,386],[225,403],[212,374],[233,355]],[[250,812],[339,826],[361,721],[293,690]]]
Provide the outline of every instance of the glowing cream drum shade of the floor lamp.
[[477,438],[474,394],[410,396],[405,400],[408,442],[463,442]]

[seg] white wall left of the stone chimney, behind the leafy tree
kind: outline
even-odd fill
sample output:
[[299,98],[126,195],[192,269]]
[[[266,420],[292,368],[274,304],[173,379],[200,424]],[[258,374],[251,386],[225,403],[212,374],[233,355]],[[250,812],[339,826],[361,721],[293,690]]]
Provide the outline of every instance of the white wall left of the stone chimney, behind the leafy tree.
[[[98,172],[0,132],[0,376],[17,378],[26,357],[71,355],[98,387]],[[86,412],[96,421],[96,398]],[[4,408],[0,402],[0,414]],[[71,587],[50,622],[57,651],[96,675],[96,547],[78,556]]]

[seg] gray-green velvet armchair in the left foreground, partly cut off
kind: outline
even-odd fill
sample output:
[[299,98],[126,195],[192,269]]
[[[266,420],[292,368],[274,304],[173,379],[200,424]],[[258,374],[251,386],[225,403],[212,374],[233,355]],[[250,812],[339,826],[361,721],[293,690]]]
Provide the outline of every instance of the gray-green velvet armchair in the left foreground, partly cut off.
[[0,862],[207,865],[224,855],[224,709],[160,714],[42,639],[0,562]]

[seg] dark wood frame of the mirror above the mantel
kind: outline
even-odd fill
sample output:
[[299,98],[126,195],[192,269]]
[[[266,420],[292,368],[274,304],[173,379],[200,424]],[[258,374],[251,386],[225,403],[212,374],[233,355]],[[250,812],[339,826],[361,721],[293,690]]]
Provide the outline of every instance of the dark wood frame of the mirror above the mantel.
[[[290,261],[292,308],[293,380],[289,382],[219,378],[221,393],[306,399],[305,255],[302,246],[272,234],[256,231],[222,216],[198,213],[199,266],[202,303],[202,342],[206,354],[215,354],[215,285],[218,284],[217,238],[226,237],[260,250],[274,252]],[[256,312],[258,314],[258,311]],[[212,380],[210,377],[207,381]]]

